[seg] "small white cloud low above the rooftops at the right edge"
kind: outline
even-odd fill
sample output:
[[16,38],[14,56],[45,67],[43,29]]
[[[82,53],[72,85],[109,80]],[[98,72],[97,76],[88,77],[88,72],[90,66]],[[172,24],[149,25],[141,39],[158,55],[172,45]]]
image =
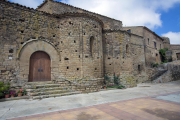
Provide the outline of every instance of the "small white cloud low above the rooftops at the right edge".
[[171,44],[180,44],[180,32],[168,32],[162,36],[169,37]]

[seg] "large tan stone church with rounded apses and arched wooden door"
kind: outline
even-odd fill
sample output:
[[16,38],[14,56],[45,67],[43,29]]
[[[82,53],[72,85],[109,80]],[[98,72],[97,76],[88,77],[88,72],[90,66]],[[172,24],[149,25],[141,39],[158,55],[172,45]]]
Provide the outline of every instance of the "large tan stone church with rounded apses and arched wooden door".
[[[0,81],[14,88],[53,82],[94,92],[104,75],[120,74],[121,84],[134,87],[148,80],[149,60],[160,63],[158,50],[164,48],[153,31],[135,28],[53,0],[37,9],[0,0]],[[147,50],[146,39],[158,47]]]

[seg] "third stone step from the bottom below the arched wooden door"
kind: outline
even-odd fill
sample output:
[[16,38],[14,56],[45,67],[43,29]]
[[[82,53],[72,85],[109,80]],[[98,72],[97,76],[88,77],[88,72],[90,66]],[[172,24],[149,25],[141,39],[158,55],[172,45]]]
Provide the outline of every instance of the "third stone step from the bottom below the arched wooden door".
[[53,87],[53,88],[39,88],[39,89],[26,89],[27,92],[43,92],[50,90],[67,90],[65,87]]

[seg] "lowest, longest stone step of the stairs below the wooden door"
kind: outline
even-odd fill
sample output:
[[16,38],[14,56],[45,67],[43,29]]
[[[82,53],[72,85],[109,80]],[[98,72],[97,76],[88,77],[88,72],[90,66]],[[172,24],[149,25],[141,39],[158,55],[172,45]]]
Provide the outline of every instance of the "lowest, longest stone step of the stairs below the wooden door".
[[61,93],[61,94],[32,96],[31,98],[34,100],[34,99],[43,99],[43,98],[49,98],[49,97],[61,97],[61,96],[74,95],[74,94],[81,94],[81,92],[75,91],[75,92],[67,92],[67,93]]

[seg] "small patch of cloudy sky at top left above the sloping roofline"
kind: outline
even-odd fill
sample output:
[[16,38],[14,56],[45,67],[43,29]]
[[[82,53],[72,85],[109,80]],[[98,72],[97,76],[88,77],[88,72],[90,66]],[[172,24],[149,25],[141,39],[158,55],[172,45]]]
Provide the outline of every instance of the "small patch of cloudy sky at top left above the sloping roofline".
[[31,8],[37,8],[41,3],[43,3],[43,0],[9,0],[14,3],[19,3],[21,5],[31,7]]

